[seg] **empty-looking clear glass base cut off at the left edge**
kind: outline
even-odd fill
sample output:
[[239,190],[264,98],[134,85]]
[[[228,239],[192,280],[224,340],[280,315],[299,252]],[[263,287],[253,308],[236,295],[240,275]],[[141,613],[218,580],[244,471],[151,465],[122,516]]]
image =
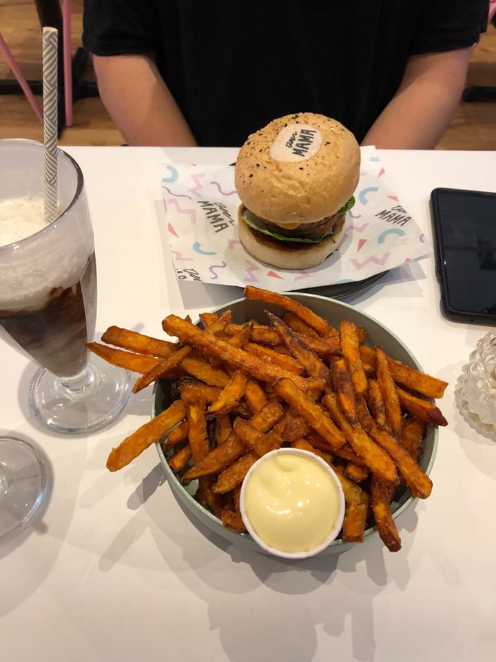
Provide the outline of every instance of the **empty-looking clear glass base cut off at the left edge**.
[[0,543],[21,533],[48,490],[48,465],[28,441],[0,437]]

